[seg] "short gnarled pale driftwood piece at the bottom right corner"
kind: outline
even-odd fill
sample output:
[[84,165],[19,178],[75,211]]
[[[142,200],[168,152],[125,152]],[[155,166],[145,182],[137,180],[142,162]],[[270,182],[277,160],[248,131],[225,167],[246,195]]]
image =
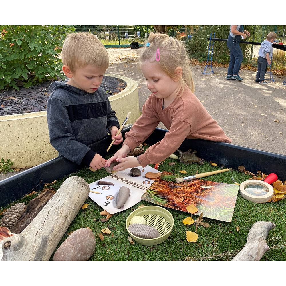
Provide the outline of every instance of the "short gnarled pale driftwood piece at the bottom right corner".
[[257,221],[248,232],[245,247],[231,261],[260,260],[269,250],[265,239],[271,229],[276,227],[271,221]]

